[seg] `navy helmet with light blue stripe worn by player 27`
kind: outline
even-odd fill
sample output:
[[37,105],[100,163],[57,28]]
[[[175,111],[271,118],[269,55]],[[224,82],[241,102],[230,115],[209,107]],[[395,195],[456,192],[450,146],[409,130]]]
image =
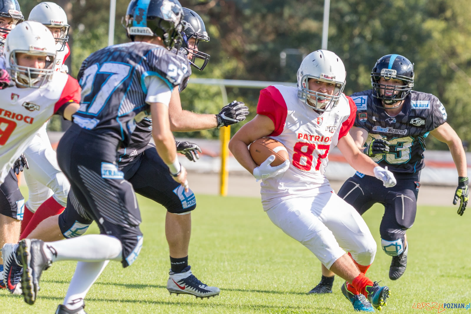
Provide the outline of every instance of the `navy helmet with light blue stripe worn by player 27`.
[[183,10],[178,0],[131,0],[124,17],[126,34],[158,36],[165,47],[180,45],[183,31]]

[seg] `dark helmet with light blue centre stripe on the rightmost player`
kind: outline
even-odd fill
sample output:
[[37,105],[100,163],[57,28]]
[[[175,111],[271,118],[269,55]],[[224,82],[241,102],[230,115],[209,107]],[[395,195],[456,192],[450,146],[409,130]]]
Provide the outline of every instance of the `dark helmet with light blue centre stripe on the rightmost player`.
[[[385,85],[380,84],[380,78],[386,81],[395,79],[404,82],[404,85]],[[406,99],[412,87],[414,87],[414,64],[405,56],[386,55],[382,56],[371,71],[371,85],[373,86],[373,97],[380,99],[382,107],[385,105],[399,104],[396,107],[388,107],[388,109],[400,106],[400,101]],[[392,91],[392,95],[386,96],[386,90]],[[382,92],[381,92],[382,91]]]

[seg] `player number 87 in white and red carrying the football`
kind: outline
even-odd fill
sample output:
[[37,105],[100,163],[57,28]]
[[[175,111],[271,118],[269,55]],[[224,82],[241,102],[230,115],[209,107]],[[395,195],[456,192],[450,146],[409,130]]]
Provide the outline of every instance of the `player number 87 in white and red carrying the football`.
[[[232,137],[229,149],[262,180],[262,205],[270,220],[355,287],[355,309],[374,311],[373,306],[385,305],[389,288],[365,277],[376,243],[357,211],[333,193],[324,175],[329,151],[337,146],[352,167],[376,184],[389,188],[396,180],[361,153],[349,135],[356,106],[342,93],[345,77],[343,62],[332,51],[310,53],[298,70],[297,89],[274,85],[260,91],[257,115]],[[272,155],[255,164],[248,145],[266,136],[286,147],[289,160],[272,167]]]

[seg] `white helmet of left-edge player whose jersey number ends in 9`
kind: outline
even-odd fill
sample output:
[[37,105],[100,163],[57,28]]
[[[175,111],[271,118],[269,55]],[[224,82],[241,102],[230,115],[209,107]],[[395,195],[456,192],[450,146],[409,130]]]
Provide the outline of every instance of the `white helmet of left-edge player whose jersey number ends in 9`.
[[[11,36],[10,36],[11,34]],[[5,62],[11,79],[20,87],[40,88],[52,79],[56,62],[56,41],[39,22],[25,21],[11,30],[4,47]],[[17,53],[46,56],[43,69],[18,64]]]

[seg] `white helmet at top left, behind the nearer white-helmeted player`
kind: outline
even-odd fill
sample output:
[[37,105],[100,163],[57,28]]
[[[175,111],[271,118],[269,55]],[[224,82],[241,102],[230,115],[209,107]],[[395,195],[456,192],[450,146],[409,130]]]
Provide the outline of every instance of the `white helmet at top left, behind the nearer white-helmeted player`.
[[65,43],[69,40],[69,27],[67,24],[67,15],[65,11],[54,2],[41,2],[32,8],[28,21],[36,21],[48,28],[59,29],[59,37],[56,42],[60,45],[57,51],[64,50]]

